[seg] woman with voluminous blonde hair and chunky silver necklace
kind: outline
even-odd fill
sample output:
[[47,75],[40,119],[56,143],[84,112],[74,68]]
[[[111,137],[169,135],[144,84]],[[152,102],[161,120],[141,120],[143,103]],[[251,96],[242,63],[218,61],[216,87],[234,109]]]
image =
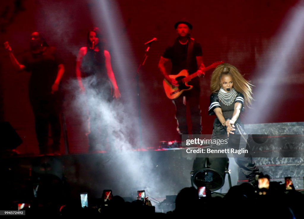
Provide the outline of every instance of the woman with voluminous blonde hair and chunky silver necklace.
[[[246,134],[240,113],[244,105],[250,106],[252,85],[240,74],[233,65],[219,65],[211,76],[211,96],[209,115],[216,115],[213,123],[212,139],[229,137],[229,147],[239,149],[241,137]],[[247,138],[246,138],[247,140]],[[259,169],[252,157],[235,156],[235,161],[250,183],[255,180]]]

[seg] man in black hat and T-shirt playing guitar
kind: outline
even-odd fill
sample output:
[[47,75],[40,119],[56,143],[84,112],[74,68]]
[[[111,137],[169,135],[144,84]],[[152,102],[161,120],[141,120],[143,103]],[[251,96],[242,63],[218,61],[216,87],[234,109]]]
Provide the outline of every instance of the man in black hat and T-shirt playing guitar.
[[[164,75],[165,80],[174,86],[178,86],[178,81],[170,78],[169,75],[178,75],[184,69],[188,70],[189,75],[198,71],[198,76],[203,72],[201,69],[205,68],[202,57],[202,47],[200,43],[190,38],[190,31],[192,25],[185,21],[175,23],[174,28],[177,31],[178,37],[174,44],[168,47],[158,63],[158,68]],[[166,71],[165,64],[171,60],[172,69],[170,74]],[[201,110],[199,109],[200,85],[199,78],[195,77],[188,85],[192,85],[191,90],[182,92],[176,99],[172,99],[176,107],[175,118],[178,123],[179,134],[189,134],[186,121],[186,106],[190,107],[192,134],[201,134]]]

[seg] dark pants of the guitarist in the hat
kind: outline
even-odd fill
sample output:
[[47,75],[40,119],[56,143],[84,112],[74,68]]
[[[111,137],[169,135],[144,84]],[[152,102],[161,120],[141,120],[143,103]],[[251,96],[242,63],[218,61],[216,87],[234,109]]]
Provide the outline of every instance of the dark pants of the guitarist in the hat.
[[[186,98],[186,105],[184,104],[184,96]],[[179,134],[188,134],[187,126],[187,105],[190,108],[192,134],[201,134],[201,110],[199,109],[199,91],[190,90],[182,93],[181,96],[172,100],[176,107],[175,119],[178,123]]]

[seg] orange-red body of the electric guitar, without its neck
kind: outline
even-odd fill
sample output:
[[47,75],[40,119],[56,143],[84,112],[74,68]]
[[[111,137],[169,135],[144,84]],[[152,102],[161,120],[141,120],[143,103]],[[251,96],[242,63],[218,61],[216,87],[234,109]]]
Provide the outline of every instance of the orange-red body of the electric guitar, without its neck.
[[163,86],[165,93],[169,99],[176,99],[178,98],[183,91],[185,90],[191,90],[193,88],[192,85],[188,85],[188,83],[182,82],[183,78],[188,77],[189,73],[187,70],[182,70],[177,75],[169,75],[170,78],[174,78],[178,81],[178,86],[172,86],[166,79],[163,81]]

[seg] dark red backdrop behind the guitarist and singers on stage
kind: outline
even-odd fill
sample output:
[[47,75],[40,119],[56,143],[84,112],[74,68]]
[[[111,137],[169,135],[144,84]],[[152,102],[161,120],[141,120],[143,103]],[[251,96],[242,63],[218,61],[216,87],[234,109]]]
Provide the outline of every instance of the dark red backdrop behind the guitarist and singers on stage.
[[[110,15],[103,16],[100,2],[111,5],[106,9]],[[137,120],[136,69],[146,46],[145,42],[156,37],[151,45],[145,65],[139,73],[140,112],[142,122],[143,148],[157,147],[159,141],[174,140],[178,137],[174,106],[163,91],[162,75],[157,68],[160,56],[176,37],[174,23],[186,19],[193,25],[192,37],[202,44],[205,66],[223,60],[235,65],[245,78],[255,85],[254,93],[267,82],[258,75],[265,65],[264,57],[275,54],[270,45],[276,40],[286,16],[299,1],[73,1],[73,0],[25,0],[2,1],[1,42],[9,41],[17,59],[29,48],[29,36],[35,30],[42,32],[50,45],[54,45],[64,58],[66,72],[62,87],[65,93],[65,110],[70,153],[86,152],[87,140],[81,129],[81,118],[71,100],[78,92],[70,86],[75,78],[75,59],[78,50],[86,43],[87,31],[100,26],[112,55],[112,66],[122,99],[128,105],[130,115]],[[118,19],[118,20],[116,20]],[[120,26],[107,22],[118,22]],[[116,42],[109,38],[114,31]],[[117,50],[115,47],[118,47]],[[20,153],[37,153],[27,86],[29,74],[13,70],[8,54],[1,48],[0,72],[0,121],[9,121],[23,139]],[[244,123],[281,123],[303,121],[303,43],[293,53],[298,54],[291,64],[293,68],[280,78],[276,89],[282,91],[278,101],[260,112],[260,121],[249,115],[255,110],[248,109]],[[122,57],[122,58],[121,58]],[[127,64],[126,64],[127,63]],[[119,67],[120,64],[125,66]],[[121,69],[124,71],[121,71]],[[289,68],[287,68],[289,69]],[[202,133],[212,133],[213,116],[208,116],[210,96],[210,75],[202,78]],[[268,72],[264,72],[265,75]],[[275,77],[275,76],[274,76]],[[258,101],[258,100],[256,100]],[[129,106],[131,103],[133,109]],[[267,103],[259,103],[265,104]],[[74,113],[74,114],[73,114]],[[137,127],[130,127],[136,130]],[[136,131],[134,135],[136,135]],[[62,149],[64,150],[64,149]]]

